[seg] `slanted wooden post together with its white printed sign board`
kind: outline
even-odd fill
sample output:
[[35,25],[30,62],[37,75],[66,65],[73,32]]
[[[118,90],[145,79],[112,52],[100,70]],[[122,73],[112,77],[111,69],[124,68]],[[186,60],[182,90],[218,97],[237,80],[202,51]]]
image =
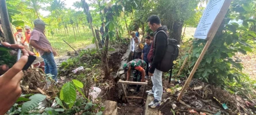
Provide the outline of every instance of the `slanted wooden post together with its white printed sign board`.
[[190,75],[186,80],[185,85],[182,87],[181,93],[179,94],[177,101],[182,98],[182,95],[189,86],[189,83],[193,78],[194,72],[196,72],[197,67],[202,60],[202,57],[204,57],[205,52],[211,44],[212,39],[215,36],[223,18],[225,17],[231,2],[232,0],[211,0],[209,1],[207,7],[205,7],[204,13],[197,26],[196,32],[194,33],[194,38],[206,39],[207,43],[205,44],[204,49],[202,49],[202,52],[198,57],[196,64],[194,64],[194,67],[190,72]]

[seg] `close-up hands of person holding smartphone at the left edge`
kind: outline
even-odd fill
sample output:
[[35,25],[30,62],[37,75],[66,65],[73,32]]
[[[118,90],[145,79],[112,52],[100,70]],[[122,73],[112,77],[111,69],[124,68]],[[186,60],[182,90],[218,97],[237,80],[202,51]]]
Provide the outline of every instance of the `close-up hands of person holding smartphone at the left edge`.
[[28,62],[29,55],[33,52],[26,51],[25,47],[18,44],[0,43],[5,47],[21,49],[23,56],[9,68],[6,64],[0,65],[0,114],[5,114],[21,95],[20,81],[24,75],[21,71]]

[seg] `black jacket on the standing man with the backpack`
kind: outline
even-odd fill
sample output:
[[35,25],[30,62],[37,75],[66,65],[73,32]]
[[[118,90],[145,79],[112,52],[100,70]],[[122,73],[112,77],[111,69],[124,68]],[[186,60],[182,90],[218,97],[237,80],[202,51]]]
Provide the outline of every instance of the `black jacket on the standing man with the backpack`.
[[[159,30],[164,30],[165,32],[167,32],[167,27],[166,26],[161,26],[160,28],[158,28],[156,30],[156,32],[154,34],[156,34]],[[167,36],[165,33],[163,32],[159,32],[158,34],[155,35],[155,42],[156,45],[153,41],[152,44],[155,45],[155,53],[154,53],[154,57],[153,57],[153,61],[150,64],[150,69],[149,72],[154,74],[155,68],[158,65],[158,63],[161,63],[163,56],[165,56],[165,52],[166,52],[166,47],[167,47]]]

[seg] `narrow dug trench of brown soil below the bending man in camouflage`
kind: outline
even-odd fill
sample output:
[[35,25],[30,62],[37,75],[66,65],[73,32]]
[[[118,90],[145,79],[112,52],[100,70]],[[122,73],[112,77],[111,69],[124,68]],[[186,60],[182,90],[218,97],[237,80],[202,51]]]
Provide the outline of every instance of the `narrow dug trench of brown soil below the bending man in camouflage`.
[[[123,51],[125,49],[125,51]],[[119,115],[140,115],[144,112],[144,106],[146,102],[147,95],[144,94],[143,99],[132,99],[128,98],[125,102],[125,96],[123,91],[121,90],[121,84],[118,81],[121,79],[125,81],[127,79],[127,74],[123,70],[123,64],[132,60],[131,48],[130,47],[122,47],[120,48],[121,52],[115,52],[110,54],[109,57],[109,67],[113,72],[110,74],[114,78],[114,86],[106,93],[106,91],[102,91],[100,95],[105,93],[105,97],[103,99],[115,101],[117,102],[117,114]],[[120,54],[121,53],[121,54]],[[132,72],[131,72],[132,75]],[[148,86],[145,87],[145,90],[149,90],[152,86],[151,79],[145,79],[148,81]],[[130,77],[130,81],[132,81],[132,76]],[[124,85],[126,87],[127,96],[128,97],[142,97],[144,86],[140,87],[140,91],[138,94],[133,94],[135,86]]]

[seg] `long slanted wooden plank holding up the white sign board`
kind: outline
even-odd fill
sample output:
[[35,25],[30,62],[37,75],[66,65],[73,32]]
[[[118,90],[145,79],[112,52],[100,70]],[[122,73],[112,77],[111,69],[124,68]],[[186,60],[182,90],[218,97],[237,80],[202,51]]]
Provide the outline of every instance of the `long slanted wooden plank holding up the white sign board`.
[[191,79],[193,78],[194,72],[196,72],[197,67],[199,66],[199,64],[200,64],[200,62],[202,60],[202,57],[204,57],[205,52],[209,48],[209,45],[211,44],[212,39],[213,39],[213,37],[215,36],[215,34],[217,32],[217,29],[219,28],[221,22],[223,21],[223,18],[225,17],[231,2],[232,2],[232,0],[224,1],[223,6],[220,9],[220,13],[217,15],[216,20],[213,22],[213,26],[209,30],[208,38],[207,38],[208,41],[205,44],[204,49],[202,49],[202,52],[201,52],[201,54],[200,54],[196,64],[194,65],[194,67],[193,67],[193,69],[192,69],[188,79],[186,80],[186,83],[185,83],[184,87],[182,87],[181,93],[179,94],[179,96],[177,98],[177,101],[179,101],[179,99],[182,98],[182,95],[184,94],[185,90],[189,86],[189,83],[190,83]]

